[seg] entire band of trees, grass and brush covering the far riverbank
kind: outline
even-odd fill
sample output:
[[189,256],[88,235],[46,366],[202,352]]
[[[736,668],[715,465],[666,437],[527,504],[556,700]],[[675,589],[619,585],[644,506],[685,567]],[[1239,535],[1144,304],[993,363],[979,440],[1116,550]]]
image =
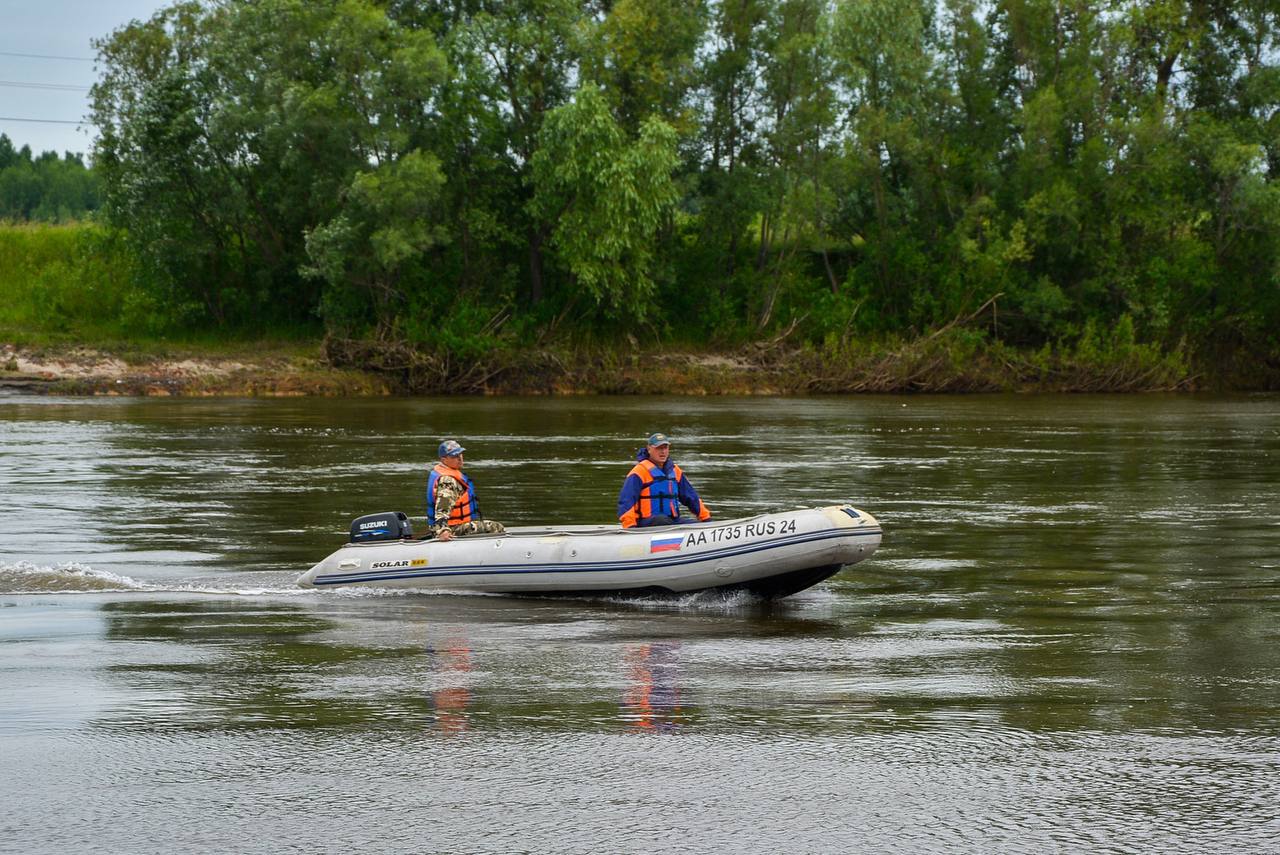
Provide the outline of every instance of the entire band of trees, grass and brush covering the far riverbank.
[[1274,1],[195,0],[95,49],[87,159],[0,134],[0,343],[147,366],[108,390],[1280,389]]

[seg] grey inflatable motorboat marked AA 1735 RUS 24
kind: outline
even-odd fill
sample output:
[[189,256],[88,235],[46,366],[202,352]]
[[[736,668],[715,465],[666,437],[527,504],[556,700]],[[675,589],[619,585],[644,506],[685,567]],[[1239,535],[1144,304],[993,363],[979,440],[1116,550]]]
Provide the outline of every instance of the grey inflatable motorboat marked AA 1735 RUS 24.
[[349,541],[298,585],[639,596],[745,590],[772,599],[869,558],[879,541],[879,522],[850,506],[649,529],[520,526],[445,543],[413,539],[403,513],[375,513],[352,522]]

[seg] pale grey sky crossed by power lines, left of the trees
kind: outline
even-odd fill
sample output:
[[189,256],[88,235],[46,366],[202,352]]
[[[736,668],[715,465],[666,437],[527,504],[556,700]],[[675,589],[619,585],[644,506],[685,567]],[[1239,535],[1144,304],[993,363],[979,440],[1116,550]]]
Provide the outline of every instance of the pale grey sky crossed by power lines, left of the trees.
[[92,127],[47,120],[83,122],[88,114],[88,87],[97,79],[90,41],[166,5],[168,0],[0,0],[0,133],[35,154],[87,154]]

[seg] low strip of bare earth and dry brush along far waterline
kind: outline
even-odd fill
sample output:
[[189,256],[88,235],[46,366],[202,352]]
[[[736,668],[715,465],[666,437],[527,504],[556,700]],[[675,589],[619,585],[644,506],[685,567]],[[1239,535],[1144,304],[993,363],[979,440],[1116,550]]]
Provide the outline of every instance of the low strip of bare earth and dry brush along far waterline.
[[[1196,392],[1175,361],[1133,353],[1107,364],[1070,356],[972,351],[946,340],[867,348],[847,361],[785,344],[732,353],[540,349],[451,371],[447,360],[367,342],[154,353],[0,346],[0,389],[36,394],[297,397],[404,394],[804,396],[851,393]],[[227,348],[219,348],[227,351]],[[335,351],[343,356],[335,357]],[[348,362],[352,356],[370,362]],[[371,365],[374,364],[374,365]],[[360,365],[361,367],[356,367]]]

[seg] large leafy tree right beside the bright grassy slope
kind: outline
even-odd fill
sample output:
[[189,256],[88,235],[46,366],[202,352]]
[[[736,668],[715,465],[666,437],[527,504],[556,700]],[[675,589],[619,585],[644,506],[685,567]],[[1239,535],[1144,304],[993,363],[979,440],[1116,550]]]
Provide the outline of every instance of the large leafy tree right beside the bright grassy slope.
[[108,214],[179,315],[223,323],[314,317],[306,234],[413,150],[444,74],[430,33],[365,0],[183,3],[99,50]]

